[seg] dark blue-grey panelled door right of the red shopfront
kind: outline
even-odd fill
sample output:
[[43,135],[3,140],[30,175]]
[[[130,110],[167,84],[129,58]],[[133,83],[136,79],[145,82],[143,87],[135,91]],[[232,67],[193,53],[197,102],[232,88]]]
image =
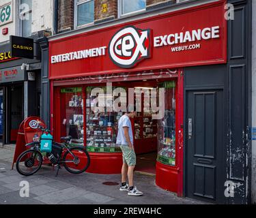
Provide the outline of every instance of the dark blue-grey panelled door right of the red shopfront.
[[224,200],[223,90],[186,92],[186,196]]

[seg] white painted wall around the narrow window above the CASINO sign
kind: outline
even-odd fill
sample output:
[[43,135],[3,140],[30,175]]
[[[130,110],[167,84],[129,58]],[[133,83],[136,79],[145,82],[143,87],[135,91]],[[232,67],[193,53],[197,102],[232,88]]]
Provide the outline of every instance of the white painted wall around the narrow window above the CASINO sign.
[[[0,0],[0,6],[12,1],[13,20],[0,27],[0,44],[8,41],[10,35],[20,35],[19,3],[20,0]],[[53,31],[54,1],[53,0],[32,0],[31,33],[41,30]],[[8,35],[2,34],[2,29],[8,27]]]

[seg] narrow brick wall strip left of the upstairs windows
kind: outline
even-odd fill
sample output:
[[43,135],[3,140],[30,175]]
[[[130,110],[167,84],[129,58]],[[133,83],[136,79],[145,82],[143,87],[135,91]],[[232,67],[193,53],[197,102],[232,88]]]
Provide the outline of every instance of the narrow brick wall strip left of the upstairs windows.
[[58,32],[74,29],[74,0],[58,1]]

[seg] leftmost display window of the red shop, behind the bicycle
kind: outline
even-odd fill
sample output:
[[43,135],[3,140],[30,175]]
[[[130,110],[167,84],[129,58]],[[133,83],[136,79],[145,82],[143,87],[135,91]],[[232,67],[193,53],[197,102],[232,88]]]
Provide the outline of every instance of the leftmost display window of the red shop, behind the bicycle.
[[81,87],[61,89],[61,136],[72,136],[72,145],[83,146],[83,92]]

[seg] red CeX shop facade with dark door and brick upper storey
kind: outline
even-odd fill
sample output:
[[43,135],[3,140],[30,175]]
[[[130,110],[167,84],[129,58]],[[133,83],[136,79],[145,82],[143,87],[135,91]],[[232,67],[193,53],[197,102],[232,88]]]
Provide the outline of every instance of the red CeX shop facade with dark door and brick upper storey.
[[[116,90],[140,89],[139,102],[148,90],[165,88],[162,120],[143,106],[132,121],[135,151],[150,160],[139,161],[137,170],[156,174],[156,185],[178,196],[252,202],[251,3],[58,1],[57,35],[48,37],[43,64],[51,90],[43,106],[50,106],[55,140],[68,134],[74,144],[86,144],[89,172],[118,173],[122,113],[92,113],[95,88],[114,100]],[[128,60],[134,51],[136,63]],[[153,170],[143,167],[152,163]]]

